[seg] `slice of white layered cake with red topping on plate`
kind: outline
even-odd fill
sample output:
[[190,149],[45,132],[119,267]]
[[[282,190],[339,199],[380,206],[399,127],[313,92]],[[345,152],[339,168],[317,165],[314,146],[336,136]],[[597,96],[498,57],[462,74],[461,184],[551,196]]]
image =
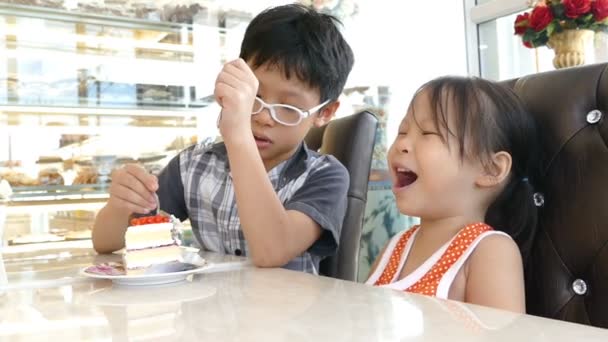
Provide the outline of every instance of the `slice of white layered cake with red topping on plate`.
[[162,215],[131,220],[123,254],[127,275],[143,274],[151,266],[182,261],[175,220]]

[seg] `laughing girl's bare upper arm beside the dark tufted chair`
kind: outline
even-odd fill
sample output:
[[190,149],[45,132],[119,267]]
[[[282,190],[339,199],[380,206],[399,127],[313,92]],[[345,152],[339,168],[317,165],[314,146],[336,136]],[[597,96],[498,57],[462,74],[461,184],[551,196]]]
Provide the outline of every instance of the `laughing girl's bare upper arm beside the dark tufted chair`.
[[526,312],[523,264],[512,239],[488,236],[475,248],[467,264],[465,302]]

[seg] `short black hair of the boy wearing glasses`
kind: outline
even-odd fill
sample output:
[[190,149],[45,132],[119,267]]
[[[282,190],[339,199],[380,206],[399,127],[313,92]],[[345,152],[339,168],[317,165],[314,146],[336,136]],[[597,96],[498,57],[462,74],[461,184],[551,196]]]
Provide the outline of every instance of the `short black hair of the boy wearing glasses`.
[[240,57],[278,67],[313,89],[321,102],[337,100],[353,63],[353,52],[338,29],[340,21],[299,4],[269,8],[258,14],[245,31]]

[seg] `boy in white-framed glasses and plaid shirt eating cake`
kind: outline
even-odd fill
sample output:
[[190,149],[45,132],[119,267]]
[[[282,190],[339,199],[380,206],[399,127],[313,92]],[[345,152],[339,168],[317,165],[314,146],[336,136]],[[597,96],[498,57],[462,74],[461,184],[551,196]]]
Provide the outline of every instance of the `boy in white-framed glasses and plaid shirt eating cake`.
[[153,210],[156,192],[202,248],[318,274],[340,241],[349,185],[344,166],[303,143],[335,114],[352,69],[336,22],[295,4],[256,16],[216,80],[223,143],[182,151],[158,179],[136,165],[115,171],[95,250],[122,248],[129,216]]

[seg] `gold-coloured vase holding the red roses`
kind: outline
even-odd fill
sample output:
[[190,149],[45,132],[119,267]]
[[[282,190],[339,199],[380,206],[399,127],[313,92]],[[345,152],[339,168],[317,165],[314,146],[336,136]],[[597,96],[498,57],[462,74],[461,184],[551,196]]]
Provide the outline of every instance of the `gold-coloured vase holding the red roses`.
[[585,54],[593,37],[591,30],[564,30],[551,35],[547,46],[555,51],[553,66],[561,69],[585,64]]

